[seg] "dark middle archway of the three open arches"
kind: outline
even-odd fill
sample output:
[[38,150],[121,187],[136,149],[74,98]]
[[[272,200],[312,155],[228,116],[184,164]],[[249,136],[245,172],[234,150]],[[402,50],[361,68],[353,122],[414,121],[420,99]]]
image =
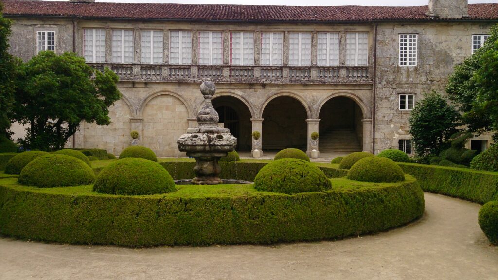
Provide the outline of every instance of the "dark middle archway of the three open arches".
[[306,150],[308,114],[297,99],[281,96],[271,100],[263,110],[262,149]]

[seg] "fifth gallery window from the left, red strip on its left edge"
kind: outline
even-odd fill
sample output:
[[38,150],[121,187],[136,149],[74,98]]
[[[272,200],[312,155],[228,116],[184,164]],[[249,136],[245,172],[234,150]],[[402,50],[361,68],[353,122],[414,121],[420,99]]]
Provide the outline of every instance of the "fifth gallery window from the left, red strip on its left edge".
[[223,33],[199,31],[199,64],[219,65],[223,62]]

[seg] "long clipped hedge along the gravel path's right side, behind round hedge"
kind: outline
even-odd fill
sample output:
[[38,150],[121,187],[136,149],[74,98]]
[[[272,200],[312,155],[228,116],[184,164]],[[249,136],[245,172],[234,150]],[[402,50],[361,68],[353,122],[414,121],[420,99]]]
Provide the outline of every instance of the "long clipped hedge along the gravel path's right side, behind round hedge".
[[398,162],[427,192],[484,204],[498,200],[498,172]]

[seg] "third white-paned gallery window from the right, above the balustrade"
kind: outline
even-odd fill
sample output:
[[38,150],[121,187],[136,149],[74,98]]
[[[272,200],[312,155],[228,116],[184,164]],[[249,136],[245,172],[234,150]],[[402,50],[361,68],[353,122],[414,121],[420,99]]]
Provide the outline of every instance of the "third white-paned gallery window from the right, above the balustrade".
[[311,32],[289,33],[289,65],[311,65]]

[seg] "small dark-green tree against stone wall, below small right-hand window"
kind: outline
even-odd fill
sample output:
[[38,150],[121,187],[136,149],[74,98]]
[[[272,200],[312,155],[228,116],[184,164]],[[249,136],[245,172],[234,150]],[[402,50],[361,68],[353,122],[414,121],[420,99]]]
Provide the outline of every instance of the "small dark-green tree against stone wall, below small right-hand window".
[[444,141],[458,131],[459,113],[441,95],[432,92],[417,102],[408,121],[415,151],[423,157],[444,149]]

